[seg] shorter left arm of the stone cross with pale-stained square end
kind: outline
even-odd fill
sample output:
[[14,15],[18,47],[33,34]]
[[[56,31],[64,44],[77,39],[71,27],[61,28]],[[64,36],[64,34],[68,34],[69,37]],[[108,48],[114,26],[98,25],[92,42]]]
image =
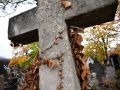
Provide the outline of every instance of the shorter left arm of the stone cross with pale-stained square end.
[[33,8],[10,18],[8,38],[11,41],[22,44],[38,41],[36,12],[37,9]]

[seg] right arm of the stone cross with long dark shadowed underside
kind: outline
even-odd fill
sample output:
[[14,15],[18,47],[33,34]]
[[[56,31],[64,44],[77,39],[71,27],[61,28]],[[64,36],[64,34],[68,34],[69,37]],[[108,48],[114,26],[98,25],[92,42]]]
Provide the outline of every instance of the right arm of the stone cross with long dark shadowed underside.
[[67,25],[88,27],[114,20],[118,0],[72,0],[65,11]]

